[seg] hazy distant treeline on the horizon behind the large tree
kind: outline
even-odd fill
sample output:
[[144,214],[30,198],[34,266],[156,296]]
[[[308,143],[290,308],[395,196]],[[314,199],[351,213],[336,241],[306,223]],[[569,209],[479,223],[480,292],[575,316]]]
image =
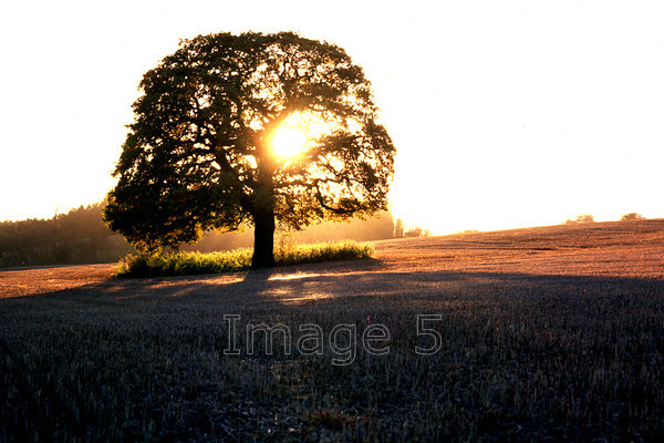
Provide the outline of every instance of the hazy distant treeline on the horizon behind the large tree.
[[[110,262],[135,253],[122,236],[102,222],[104,205],[101,202],[81,206],[50,219],[0,223],[0,267]],[[402,233],[396,234],[403,236]],[[274,243],[278,246],[287,241],[362,241],[394,237],[395,220],[391,213],[385,212],[367,220],[328,222],[302,231],[278,233]],[[252,245],[253,231],[247,229],[243,233],[208,233],[196,245],[183,245],[180,249],[209,253]]]

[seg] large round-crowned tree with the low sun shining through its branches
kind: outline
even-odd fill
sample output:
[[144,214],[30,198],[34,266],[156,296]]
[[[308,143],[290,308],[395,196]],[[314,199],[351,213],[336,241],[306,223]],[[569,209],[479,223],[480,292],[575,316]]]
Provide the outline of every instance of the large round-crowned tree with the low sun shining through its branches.
[[[336,45],[291,32],[200,35],[141,90],[104,212],[141,249],[249,223],[252,266],[270,267],[276,222],[299,229],[386,209],[395,150],[362,69]],[[271,140],[293,122],[308,148],[279,157]]]

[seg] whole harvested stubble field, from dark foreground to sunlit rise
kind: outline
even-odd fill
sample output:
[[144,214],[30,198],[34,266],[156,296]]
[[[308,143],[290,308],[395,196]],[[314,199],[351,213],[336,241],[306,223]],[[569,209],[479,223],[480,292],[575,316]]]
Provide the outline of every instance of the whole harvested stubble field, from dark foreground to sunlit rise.
[[[663,220],[376,250],[151,280],[1,270],[0,441],[664,434]],[[261,324],[271,347],[264,331],[250,343]]]

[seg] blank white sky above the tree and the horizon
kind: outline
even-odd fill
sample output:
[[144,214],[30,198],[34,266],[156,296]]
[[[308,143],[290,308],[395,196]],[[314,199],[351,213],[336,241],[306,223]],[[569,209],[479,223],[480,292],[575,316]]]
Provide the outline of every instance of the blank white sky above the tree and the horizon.
[[661,1],[4,1],[0,220],[103,198],[143,73],[179,38],[250,29],[365,69],[407,224],[664,217],[662,23]]

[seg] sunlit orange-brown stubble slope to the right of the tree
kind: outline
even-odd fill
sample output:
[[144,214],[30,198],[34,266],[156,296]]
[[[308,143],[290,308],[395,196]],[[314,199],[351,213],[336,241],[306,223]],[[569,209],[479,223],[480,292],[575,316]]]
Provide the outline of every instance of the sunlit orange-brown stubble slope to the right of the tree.
[[664,220],[558,225],[385,240],[377,258],[400,268],[544,275],[664,276]]

